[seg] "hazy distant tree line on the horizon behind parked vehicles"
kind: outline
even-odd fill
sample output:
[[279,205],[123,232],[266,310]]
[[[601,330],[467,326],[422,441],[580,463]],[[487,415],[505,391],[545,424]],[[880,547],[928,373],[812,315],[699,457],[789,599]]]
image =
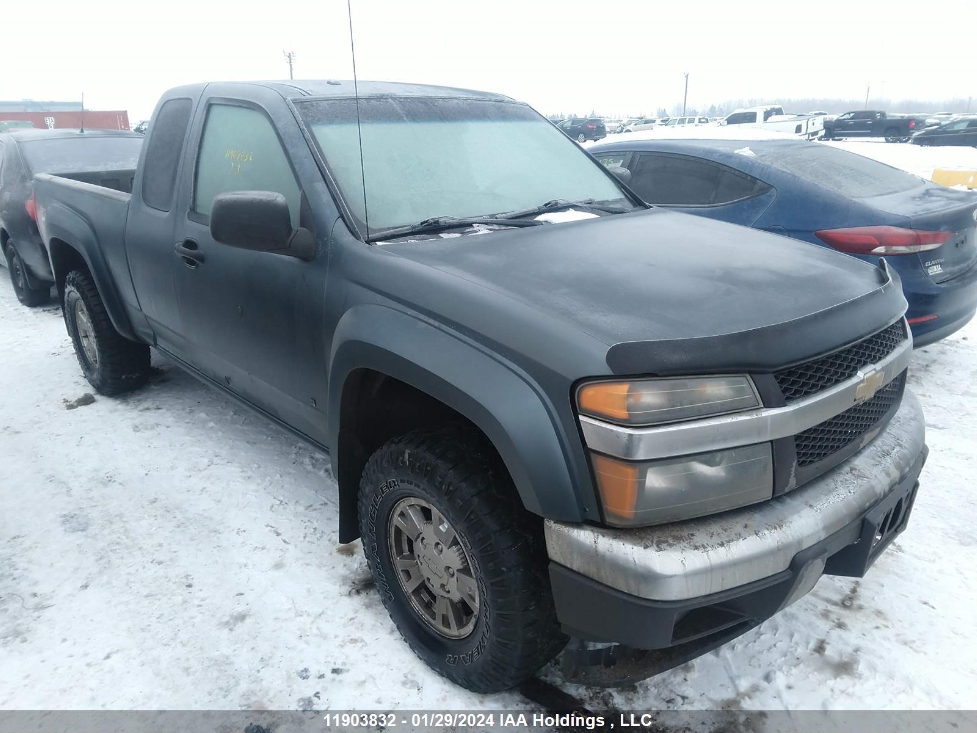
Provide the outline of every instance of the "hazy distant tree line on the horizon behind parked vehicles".
[[[846,112],[849,109],[864,109],[866,108],[865,98],[862,99],[837,99],[837,98],[817,98],[817,97],[798,97],[794,99],[770,99],[770,98],[754,98],[754,99],[744,99],[744,100],[727,100],[725,102],[720,102],[718,104],[712,104],[708,107],[686,107],[686,114],[703,114],[707,117],[725,117],[727,114],[732,112],[734,109],[739,109],[743,107],[758,107],[760,105],[781,105],[784,107],[786,112],[810,112],[810,111],[826,111],[830,114],[840,114],[841,112]],[[968,112],[977,111],[977,100],[973,98],[960,97],[951,100],[917,100],[917,99],[879,99],[876,97],[870,97],[869,106],[870,109],[885,109],[890,112]],[[620,117],[641,117],[641,116],[675,116],[682,113],[682,103],[676,103],[671,106],[670,109],[659,107],[657,109],[648,109],[641,113],[636,114],[605,114],[603,112],[598,112],[595,109],[591,109],[589,114],[577,114],[574,112],[554,112],[553,114],[548,114],[550,119],[564,119],[566,117],[607,117],[607,118],[620,118]]]

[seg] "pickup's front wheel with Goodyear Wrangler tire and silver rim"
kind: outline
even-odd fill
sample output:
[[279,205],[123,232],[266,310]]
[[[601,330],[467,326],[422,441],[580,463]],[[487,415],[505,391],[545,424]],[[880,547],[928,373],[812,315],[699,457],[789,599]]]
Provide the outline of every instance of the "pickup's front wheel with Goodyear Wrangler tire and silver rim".
[[452,682],[508,689],[566,643],[539,519],[478,433],[409,433],[373,453],[360,532],[394,624]]

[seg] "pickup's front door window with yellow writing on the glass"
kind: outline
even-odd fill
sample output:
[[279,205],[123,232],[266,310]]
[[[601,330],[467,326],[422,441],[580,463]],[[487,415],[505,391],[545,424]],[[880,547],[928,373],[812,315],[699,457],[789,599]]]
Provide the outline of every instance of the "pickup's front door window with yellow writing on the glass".
[[288,201],[299,225],[301,194],[275,128],[257,109],[211,105],[196,162],[192,208],[209,214],[214,196],[228,191],[274,191]]

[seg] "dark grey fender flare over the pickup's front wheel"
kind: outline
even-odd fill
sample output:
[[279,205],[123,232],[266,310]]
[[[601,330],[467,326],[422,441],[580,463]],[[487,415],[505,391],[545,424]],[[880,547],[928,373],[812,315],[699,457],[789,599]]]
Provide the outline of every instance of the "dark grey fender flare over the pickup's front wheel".
[[[343,390],[352,372],[368,368],[428,394],[481,429],[529,511],[581,521],[569,454],[575,436],[567,434],[556,407],[518,367],[441,324],[383,305],[355,306],[343,315],[329,362],[333,475],[343,476],[338,450]],[[341,507],[347,521],[348,512]]]

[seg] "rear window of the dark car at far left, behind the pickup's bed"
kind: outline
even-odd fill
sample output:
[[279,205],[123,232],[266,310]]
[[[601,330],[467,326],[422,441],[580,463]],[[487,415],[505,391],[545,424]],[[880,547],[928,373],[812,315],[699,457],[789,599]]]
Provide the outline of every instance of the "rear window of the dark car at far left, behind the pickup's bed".
[[31,175],[135,170],[142,146],[142,136],[85,138],[79,135],[21,141],[21,154]]

